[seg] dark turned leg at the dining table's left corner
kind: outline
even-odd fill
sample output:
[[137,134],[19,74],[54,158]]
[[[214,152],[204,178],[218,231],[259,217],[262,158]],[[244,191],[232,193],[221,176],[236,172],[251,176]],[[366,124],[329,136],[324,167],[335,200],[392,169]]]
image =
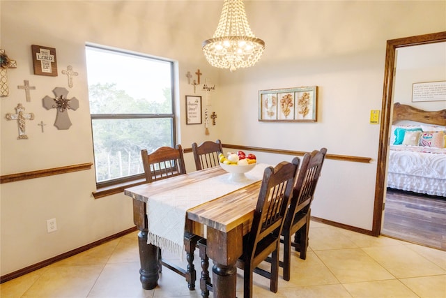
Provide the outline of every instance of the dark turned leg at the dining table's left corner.
[[139,280],[142,288],[152,290],[158,285],[158,248],[152,244],[147,244],[147,215],[146,203],[139,200],[133,200],[133,221],[137,225],[138,245],[139,245],[139,261],[141,269],[139,269]]

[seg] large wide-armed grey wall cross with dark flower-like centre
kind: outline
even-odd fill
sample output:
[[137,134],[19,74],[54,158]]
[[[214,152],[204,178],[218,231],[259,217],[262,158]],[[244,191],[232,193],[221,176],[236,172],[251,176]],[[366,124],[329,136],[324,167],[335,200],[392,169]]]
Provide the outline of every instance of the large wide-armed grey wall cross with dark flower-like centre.
[[72,125],[70,117],[68,117],[68,109],[77,110],[79,107],[79,100],[75,97],[68,99],[68,90],[62,87],[54,88],[53,93],[56,98],[45,96],[45,98],[43,98],[43,107],[47,110],[53,108],[57,109],[54,126],[56,126],[57,129],[68,129]]

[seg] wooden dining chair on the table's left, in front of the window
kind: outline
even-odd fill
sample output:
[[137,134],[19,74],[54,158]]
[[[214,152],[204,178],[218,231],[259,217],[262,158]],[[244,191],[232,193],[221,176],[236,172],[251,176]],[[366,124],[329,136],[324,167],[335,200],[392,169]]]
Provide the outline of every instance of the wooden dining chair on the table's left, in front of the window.
[[[144,165],[144,173],[146,181],[153,182],[157,180],[175,177],[186,174],[186,167],[183,157],[183,148],[180,144],[172,147],[159,147],[155,151],[148,154],[146,149],[141,150],[142,163]],[[194,268],[194,251],[197,247],[197,241],[201,237],[185,232],[184,244],[187,257],[187,269],[178,267],[173,262],[169,262],[162,258],[161,248],[158,248],[158,270],[162,271],[162,266],[184,276],[190,290],[195,289],[195,281],[197,274]]]

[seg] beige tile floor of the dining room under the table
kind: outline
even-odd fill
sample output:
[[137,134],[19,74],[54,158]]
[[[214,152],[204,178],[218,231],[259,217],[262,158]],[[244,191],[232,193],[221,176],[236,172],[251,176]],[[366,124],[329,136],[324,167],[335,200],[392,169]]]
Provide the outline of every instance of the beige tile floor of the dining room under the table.
[[[312,222],[307,260],[293,258],[291,281],[269,291],[254,274],[254,297],[446,298],[446,251],[387,237],[370,237]],[[199,257],[195,258],[197,275]],[[243,297],[243,271],[238,297]],[[159,285],[139,283],[137,233],[125,235],[0,285],[1,298],[201,297],[184,278],[163,269]],[[211,295],[212,297],[212,295]]]

